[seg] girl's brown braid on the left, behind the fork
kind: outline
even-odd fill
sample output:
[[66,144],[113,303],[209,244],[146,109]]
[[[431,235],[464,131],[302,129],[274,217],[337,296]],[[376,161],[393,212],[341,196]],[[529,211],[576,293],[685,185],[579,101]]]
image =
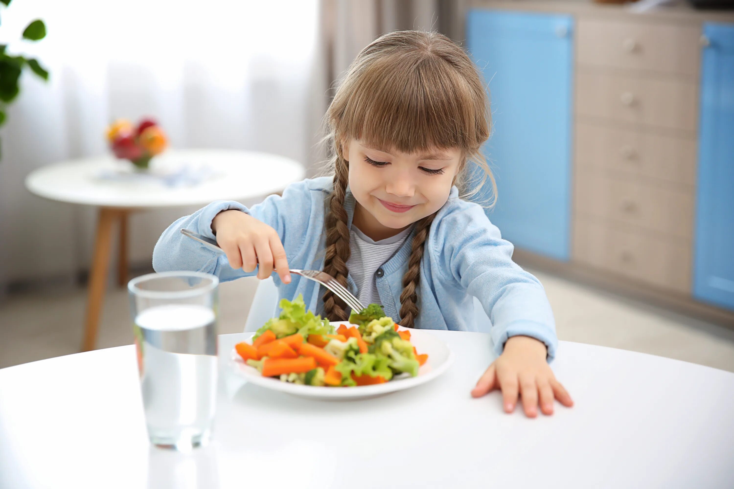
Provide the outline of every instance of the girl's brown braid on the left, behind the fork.
[[[341,155],[337,156],[334,174],[334,187],[329,196],[329,212],[326,218],[326,257],[324,272],[333,276],[337,282],[346,287],[346,260],[349,260],[349,228],[346,226],[347,216],[344,209],[346,184],[349,182],[347,162]],[[324,312],[332,321],[346,321],[346,304],[333,292],[324,292]]]

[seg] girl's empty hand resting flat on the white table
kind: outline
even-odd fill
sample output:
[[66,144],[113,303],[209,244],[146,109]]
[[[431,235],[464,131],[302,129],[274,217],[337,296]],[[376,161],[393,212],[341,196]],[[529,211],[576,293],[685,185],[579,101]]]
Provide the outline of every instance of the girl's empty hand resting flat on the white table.
[[523,397],[526,416],[538,415],[538,400],[543,414],[553,414],[553,398],[570,408],[573,400],[556,380],[548,366],[545,345],[531,337],[512,337],[505,343],[504,352],[484,372],[471,391],[473,397],[482,397],[493,389],[501,389],[504,410],[512,413],[517,396]]

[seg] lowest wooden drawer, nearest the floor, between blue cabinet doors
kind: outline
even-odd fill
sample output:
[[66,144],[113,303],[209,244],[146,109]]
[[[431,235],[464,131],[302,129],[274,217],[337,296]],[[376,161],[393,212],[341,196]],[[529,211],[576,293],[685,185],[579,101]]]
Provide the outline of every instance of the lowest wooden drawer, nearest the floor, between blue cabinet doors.
[[691,244],[624,224],[576,216],[573,258],[603,271],[680,293],[691,291]]

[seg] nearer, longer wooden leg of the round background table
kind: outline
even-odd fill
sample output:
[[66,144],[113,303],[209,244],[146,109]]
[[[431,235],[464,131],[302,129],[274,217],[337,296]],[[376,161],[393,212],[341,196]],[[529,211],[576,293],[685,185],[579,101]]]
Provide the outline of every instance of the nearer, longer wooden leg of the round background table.
[[101,207],[97,221],[97,237],[95,238],[94,257],[87,292],[87,318],[84,321],[84,340],[82,351],[94,350],[97,343],[99,317],[102,312],[104,290],[109,268],[109,251],[112,244],[112,224],[119,216],[119,211]]

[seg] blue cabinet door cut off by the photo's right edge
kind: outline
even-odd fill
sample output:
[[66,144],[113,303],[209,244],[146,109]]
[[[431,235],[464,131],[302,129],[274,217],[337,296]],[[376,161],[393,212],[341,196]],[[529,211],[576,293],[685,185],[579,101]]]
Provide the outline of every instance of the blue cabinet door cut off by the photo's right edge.
[[703,33],[693,290],[734,309],[734,24]]

